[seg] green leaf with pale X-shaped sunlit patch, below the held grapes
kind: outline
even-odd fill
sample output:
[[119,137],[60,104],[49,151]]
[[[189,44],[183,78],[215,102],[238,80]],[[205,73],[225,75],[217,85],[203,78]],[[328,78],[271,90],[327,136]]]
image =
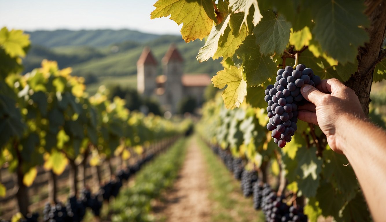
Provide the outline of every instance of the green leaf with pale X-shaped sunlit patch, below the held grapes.
[[317,193],[323,161],[316,156],[316,147],[299,149],[295,158],[298,161],[296,174],[300,177],[297,180],[299,190],[306,197],[314,197]]

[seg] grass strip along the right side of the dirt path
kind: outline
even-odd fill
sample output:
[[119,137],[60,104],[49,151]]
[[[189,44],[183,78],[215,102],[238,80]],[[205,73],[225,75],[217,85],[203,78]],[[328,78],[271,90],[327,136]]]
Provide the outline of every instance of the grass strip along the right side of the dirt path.
[[240,182],[234,179],[220,158],[198,136],[195,137],[207,163],[209,198],[213,203],[210,221],[265,221],[264,214],[253,209],[252,198],[242,195]]

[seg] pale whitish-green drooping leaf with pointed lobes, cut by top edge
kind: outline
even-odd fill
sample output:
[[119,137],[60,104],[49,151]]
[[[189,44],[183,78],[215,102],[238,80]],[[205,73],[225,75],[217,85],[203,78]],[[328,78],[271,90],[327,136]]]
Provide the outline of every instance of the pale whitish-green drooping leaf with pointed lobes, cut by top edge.
[[[248,27],[247,17],[249,14],[249,8],[253,5],[255,11],[253,14],[253,24],[256,26],[261,18],[263,17],[260,13],[259,5],[257,5],[257,0],[229,0],[229,7],[232,8],[233,13],[244,12],[244,18],[242,23],[245,22],[245,25]],[[240,26],[241,29],[241,26]]]

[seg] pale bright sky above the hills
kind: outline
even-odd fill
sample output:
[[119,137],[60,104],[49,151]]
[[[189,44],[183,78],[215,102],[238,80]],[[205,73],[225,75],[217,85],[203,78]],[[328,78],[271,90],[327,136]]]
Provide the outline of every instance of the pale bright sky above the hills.
[[169,18],[150,20],[156,0],[0,0],[0,29],[131,29],[180,34]]

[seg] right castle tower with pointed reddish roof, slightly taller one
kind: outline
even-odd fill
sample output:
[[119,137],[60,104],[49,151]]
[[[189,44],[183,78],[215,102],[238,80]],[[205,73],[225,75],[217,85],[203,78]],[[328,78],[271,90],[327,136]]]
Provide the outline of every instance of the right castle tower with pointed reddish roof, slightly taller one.
[[162,59],[162,67],[166,76],[165,96],[171,105],[171,113],[177,113],[177,104],[183,98],[183,86],[181,82],[183,58],[176,46],[171,44]]

